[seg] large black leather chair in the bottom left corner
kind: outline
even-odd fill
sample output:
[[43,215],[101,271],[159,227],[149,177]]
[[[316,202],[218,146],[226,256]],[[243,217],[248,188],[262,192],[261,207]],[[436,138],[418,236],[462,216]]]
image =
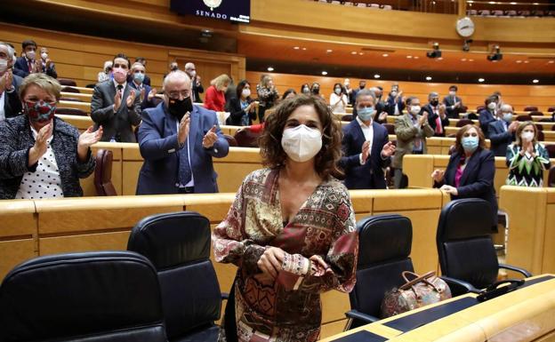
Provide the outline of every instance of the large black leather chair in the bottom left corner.
[[2,342],[166,341],[157,273],[129,251],[34,258],[0,287]]

